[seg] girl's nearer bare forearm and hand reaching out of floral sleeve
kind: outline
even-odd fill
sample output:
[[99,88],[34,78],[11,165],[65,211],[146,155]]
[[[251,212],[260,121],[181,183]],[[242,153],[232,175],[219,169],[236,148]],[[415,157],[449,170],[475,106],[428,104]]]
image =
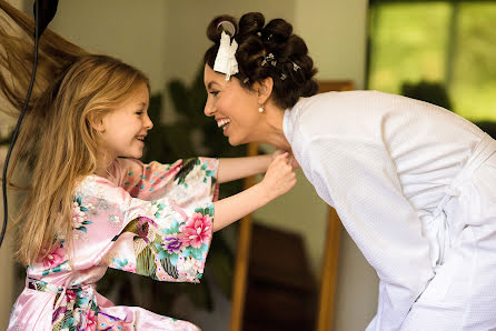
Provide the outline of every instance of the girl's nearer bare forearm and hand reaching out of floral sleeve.
[[[271,158],[271,156],[260,157]],[[254,157],[254,159],[257,159],[257,157]],[[214,231],[218,231],[264,207],[269,201],[289,191],[295,184],[296,174],[289,164],[288,153],[275,157],[261,182],[238,194],[214,202]]]

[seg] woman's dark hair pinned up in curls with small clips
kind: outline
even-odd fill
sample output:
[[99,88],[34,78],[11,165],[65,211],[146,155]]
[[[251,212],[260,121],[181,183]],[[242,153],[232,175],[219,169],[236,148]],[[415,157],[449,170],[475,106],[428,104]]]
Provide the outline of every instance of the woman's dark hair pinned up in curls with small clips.
[[[235,27],[234,36],[225,29],[229,23]],[[307,46],[292,33],[292,26],[284,19],[274,19],[265,24],[264,14],[249,12],[241,17],[238,24],[234,17],[216,17],[207,28],[207,37],[215,44],[204,56],[205,64],[210,68],[214,68],[222,31],[238,43],[236,60],[239,72],[235,77],[246,89],[271,77],[271,98],[281,108],[290,108],[300,97],[317,93],[318,84],[314,79],[317,69],[308,56]]]

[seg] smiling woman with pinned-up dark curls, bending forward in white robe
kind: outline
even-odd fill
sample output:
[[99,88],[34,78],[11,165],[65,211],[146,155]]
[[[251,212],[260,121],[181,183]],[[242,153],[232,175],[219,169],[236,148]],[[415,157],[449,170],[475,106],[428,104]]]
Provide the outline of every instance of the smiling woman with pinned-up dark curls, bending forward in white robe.
[[336,208],[380,279],[367,330],[496,328],[496,141],[405,97],[314,96],[313,60],[285,20],[222,16],[207,36],[206,116],[234,146],[291,150]]

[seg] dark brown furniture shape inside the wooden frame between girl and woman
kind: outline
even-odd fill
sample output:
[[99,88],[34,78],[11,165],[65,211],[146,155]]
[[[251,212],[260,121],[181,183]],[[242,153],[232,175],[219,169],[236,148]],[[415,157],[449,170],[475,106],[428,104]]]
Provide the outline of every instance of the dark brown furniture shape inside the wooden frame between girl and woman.
[[255,221],[242,330],[313,330],[317,292],[304,235]]

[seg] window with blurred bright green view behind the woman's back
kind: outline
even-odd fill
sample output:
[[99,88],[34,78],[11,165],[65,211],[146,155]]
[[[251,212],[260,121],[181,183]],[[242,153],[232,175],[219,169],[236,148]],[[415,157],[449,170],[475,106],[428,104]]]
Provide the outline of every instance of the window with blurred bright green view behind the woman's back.
[[496,0],[370,0],[369,23],[368,89],[435,83],[456,113],[496,121]]

